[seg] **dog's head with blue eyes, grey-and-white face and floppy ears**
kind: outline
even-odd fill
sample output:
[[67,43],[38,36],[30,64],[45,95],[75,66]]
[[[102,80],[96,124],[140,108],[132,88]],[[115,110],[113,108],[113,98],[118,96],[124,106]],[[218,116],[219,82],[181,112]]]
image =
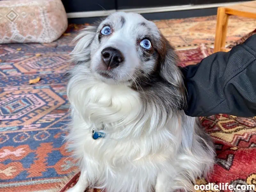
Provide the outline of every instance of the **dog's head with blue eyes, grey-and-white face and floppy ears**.
[[98,80],[182,104],[184,86],[176,53],[153,22],[117,12],[85,28],[76,39],[73,60],[87,65]]

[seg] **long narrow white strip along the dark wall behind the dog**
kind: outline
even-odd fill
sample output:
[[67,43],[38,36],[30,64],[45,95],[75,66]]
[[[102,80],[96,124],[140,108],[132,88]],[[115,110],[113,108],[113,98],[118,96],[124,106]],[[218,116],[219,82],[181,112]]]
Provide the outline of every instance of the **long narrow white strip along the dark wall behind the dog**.
[[169,11],[182,11],[193,9],[207,9],[221,6],[229,6],[243,2],[231,2],[231,3],[215,3],[215,4],[202,4],[202,5],[180,5],[180,6],[165,6],[165,7],[150,7],[150,8],[136,8],[136,9],[120,9],[120,10],[107,10],[107,11],[88,11],[88,12],[72,12],[67,13],[68,18],[83,18],[83,17],[103,17],[108,16],[114,12],[134,12],[134,13],[155,13],[155,12],[169,12]]

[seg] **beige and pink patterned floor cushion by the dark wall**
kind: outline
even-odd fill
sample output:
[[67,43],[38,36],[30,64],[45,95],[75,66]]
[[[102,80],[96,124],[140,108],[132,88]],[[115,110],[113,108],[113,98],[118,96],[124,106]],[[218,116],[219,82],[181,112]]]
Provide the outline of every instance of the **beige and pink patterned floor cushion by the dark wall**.
[[0,44],[50,43],[67,27],[61,0],[0,1]]

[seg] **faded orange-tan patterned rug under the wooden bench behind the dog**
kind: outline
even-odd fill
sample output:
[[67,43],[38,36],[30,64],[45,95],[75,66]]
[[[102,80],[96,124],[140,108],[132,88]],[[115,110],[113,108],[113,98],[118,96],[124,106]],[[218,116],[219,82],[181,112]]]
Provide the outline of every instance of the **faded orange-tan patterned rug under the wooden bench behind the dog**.
[[[176,48],[214,43],[216,16],[161,20],[155,23]],[[255,19],[230,16],[226,41],[227,43],[237,41],[255,28]]]

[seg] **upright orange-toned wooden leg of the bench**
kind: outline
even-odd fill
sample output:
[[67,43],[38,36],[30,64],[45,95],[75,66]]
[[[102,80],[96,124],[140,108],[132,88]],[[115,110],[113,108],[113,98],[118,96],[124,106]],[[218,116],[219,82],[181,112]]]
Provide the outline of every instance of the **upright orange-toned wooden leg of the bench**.
[[228,27],[228,17],[224,7],[219,7],[217,12],[217,26],[213,52],[226,51],[226,36]]

